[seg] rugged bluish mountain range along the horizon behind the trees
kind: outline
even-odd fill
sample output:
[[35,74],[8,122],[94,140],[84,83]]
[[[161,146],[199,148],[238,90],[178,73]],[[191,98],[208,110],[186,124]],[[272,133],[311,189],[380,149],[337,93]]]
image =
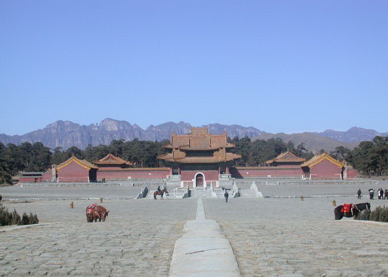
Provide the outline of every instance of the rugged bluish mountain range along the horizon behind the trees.
[[[352,127],[348,131],[340,132],[326,130],[321,133],[298,133],[298,134],[271,134],[260,131],[254,127],[243,127],[240,125],[223,125],[219,123],[207,124],[209,132],[212,134],[221,134],[226,132],[228,137],[243,138],[248,136],[254,139],[282,138],[287,142],[291,140],[295,146],[304,142],[306,149],[317,152],[321,149],[332,151],[337,146],[345,146],[353,149],[360,141],[371,140],[375,136],[387,136],[388,133],[379,133],[371,129]],[[100,124],[80,125],[71,121],[55,121],[43,129],[27,133],[25,135],[8,136],[0,134],[0,142],[3,144],[23,142],[35,143],[42,142],[51,149],[62,147],[63,150],[71,146],[84,149],[88,144],[94,146],[108,145],[113,139],[123,139],[125,141],[138,138],[140,140],[161,141],[170,139],[171,132],[176,134],[188,134],[191,131],[189,123],[180,121],[166,122],[159,125],[150,125],[143,130],[136,124],[127,121],[118,121],[114,119],[104,119]]]

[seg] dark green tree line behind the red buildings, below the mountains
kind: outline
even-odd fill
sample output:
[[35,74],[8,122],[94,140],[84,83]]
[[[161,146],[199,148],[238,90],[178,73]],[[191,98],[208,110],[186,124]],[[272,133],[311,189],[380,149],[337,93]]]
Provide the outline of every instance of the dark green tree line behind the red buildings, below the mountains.
[[[308,151],[301,143],[295,145],[280,138],[268,140],[251,138],[228,138],[228,142],[236,145],[232,153],[241,155],[236,166],[263,166],[267,160],[273,159],[287,150],[306,160],[315,154]],[[75,146],[62,150],[61,147],[51,149],[41,142],[31,144],[24,142],[20,145],[12,143],[6,146],[0,142],[0,183],[11,183],[12,176],[25,172],[44,172],[51,168],[51,164],[60,164],[71,156],[93,162],[112,153],[134,163],[135,167],[163,166],[163,161],[157,156],[167,153],[163,146],[169,140],[142,141],[137,138],[131,141],[112,140],[109,145],[88,145],[84,150]],[[323,153],[324,150],[319,151]],[[372,141],[362,141],[353,150],[343,146],[337,147],[329,155],[339,161],[346,161],[358,172],[367,175],[386,175],[388,173],[388,137],[377,136]]]

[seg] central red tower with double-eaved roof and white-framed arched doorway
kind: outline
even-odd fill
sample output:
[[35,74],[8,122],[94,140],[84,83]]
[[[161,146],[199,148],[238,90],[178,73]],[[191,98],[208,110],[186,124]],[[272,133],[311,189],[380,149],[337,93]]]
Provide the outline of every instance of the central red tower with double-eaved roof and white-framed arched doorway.
[[241,157],[228,152],[235,145],[227,142],[225,132],[213,135],[207,129],[192,127],[188,135],[172,133],[165,146],[171,153],[158,156],[171,168],[171,175],[181,175],[181,187],[218,187],[219,175],[229,174],[233,161]]

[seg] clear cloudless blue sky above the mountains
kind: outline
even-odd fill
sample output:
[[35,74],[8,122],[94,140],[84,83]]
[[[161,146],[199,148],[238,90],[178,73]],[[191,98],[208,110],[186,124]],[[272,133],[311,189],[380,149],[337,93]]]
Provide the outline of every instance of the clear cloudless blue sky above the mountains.
[[0,1],[0,133],[388,132],[387,1]]

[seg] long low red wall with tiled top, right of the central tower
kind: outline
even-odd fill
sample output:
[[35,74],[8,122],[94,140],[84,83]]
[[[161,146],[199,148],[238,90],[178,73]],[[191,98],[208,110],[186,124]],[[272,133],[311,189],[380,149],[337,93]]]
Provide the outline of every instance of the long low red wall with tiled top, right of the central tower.
[[231,167],[230,173],[235,178],[248,177],[302,177],[301,167],[283,166],[257,166],[257,167]]

